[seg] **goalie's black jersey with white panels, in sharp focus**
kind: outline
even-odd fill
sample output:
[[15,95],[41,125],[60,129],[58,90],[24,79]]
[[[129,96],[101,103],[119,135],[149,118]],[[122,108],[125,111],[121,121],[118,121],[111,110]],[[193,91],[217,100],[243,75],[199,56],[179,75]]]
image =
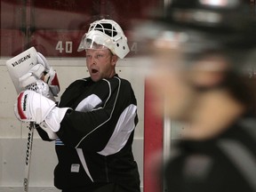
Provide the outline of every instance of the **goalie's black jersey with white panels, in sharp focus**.
[[140,191],[132,155],[137,102],[131,84],[118,76],[93,82],[90,77],[70,84],[60,98],[69,110],[60,123],[54,171],[57,188],[93,188],[116,183]]

